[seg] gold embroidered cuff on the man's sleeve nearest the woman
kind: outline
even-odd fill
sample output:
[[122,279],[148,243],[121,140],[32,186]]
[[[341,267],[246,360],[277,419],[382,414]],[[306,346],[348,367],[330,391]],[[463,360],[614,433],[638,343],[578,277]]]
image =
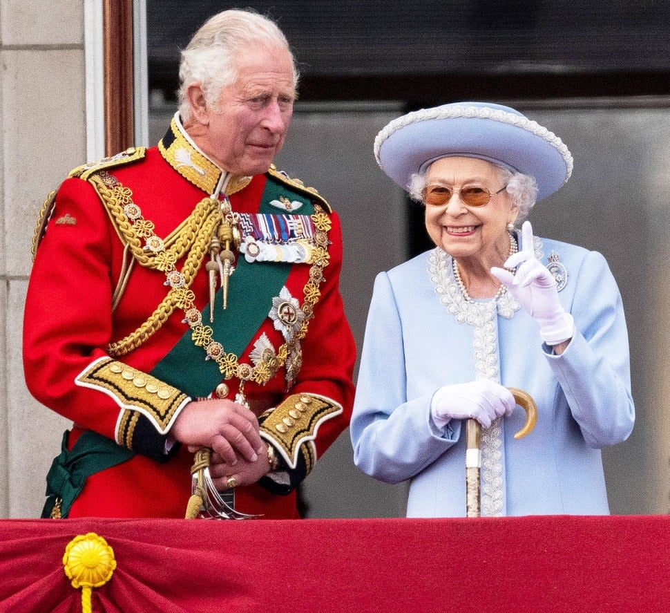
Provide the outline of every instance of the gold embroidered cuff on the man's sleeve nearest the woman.
[[313,444],[303,443],[313,441],[320,424],[339,413],[342,407],[329,398],[293,394],[267,415],[260,431],[276,443],[291,469],[298,464],[302,451],[309,473],[316,462],[316,449]]

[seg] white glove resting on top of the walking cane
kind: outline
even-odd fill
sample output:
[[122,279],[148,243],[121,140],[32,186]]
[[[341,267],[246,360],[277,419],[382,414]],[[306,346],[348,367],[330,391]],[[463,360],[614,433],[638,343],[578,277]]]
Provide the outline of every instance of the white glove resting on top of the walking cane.
[[496,417],[510,415],[515,399],[506,387],[489,379],[446,385],[434,393],[430,401],[430,416],[438,428],[450,419],[477,419],[488,428]]

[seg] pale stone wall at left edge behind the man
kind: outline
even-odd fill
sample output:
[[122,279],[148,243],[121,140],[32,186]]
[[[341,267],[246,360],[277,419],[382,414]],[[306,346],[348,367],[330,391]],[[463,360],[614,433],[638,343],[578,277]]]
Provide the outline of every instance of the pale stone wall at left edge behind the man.
[[84,0],[0,0],[0,516],[34,517],[65,419],[23,381],[30,245],[48,191],[86,157]]

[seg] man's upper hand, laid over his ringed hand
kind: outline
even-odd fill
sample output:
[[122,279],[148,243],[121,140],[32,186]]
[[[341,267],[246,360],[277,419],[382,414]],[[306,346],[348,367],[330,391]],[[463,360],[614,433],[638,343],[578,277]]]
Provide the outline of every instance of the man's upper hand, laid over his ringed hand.
[[191,451],[209,447],[231,465],[238,460],[256,462],[258,451],[265,452],[258,432],[256,415],[226,399],[189,402],[170,429],[175,440],[188,445]]

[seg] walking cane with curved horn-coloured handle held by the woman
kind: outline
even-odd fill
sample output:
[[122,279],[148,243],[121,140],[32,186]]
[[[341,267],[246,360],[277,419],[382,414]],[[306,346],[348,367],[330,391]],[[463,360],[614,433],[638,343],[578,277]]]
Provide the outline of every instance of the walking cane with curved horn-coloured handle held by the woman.
[[[537,404],[533,397],[519,390],[518,388],[509,388],[514,396],[516,403],[526,411],[526,423],[514,437],[523,438],[535,428],[537,422]],[[481,424],[477,419],[468,419],[466,422],[466,516],[479,517],[480,509],[480,491],[479,475],[481,473]]]

